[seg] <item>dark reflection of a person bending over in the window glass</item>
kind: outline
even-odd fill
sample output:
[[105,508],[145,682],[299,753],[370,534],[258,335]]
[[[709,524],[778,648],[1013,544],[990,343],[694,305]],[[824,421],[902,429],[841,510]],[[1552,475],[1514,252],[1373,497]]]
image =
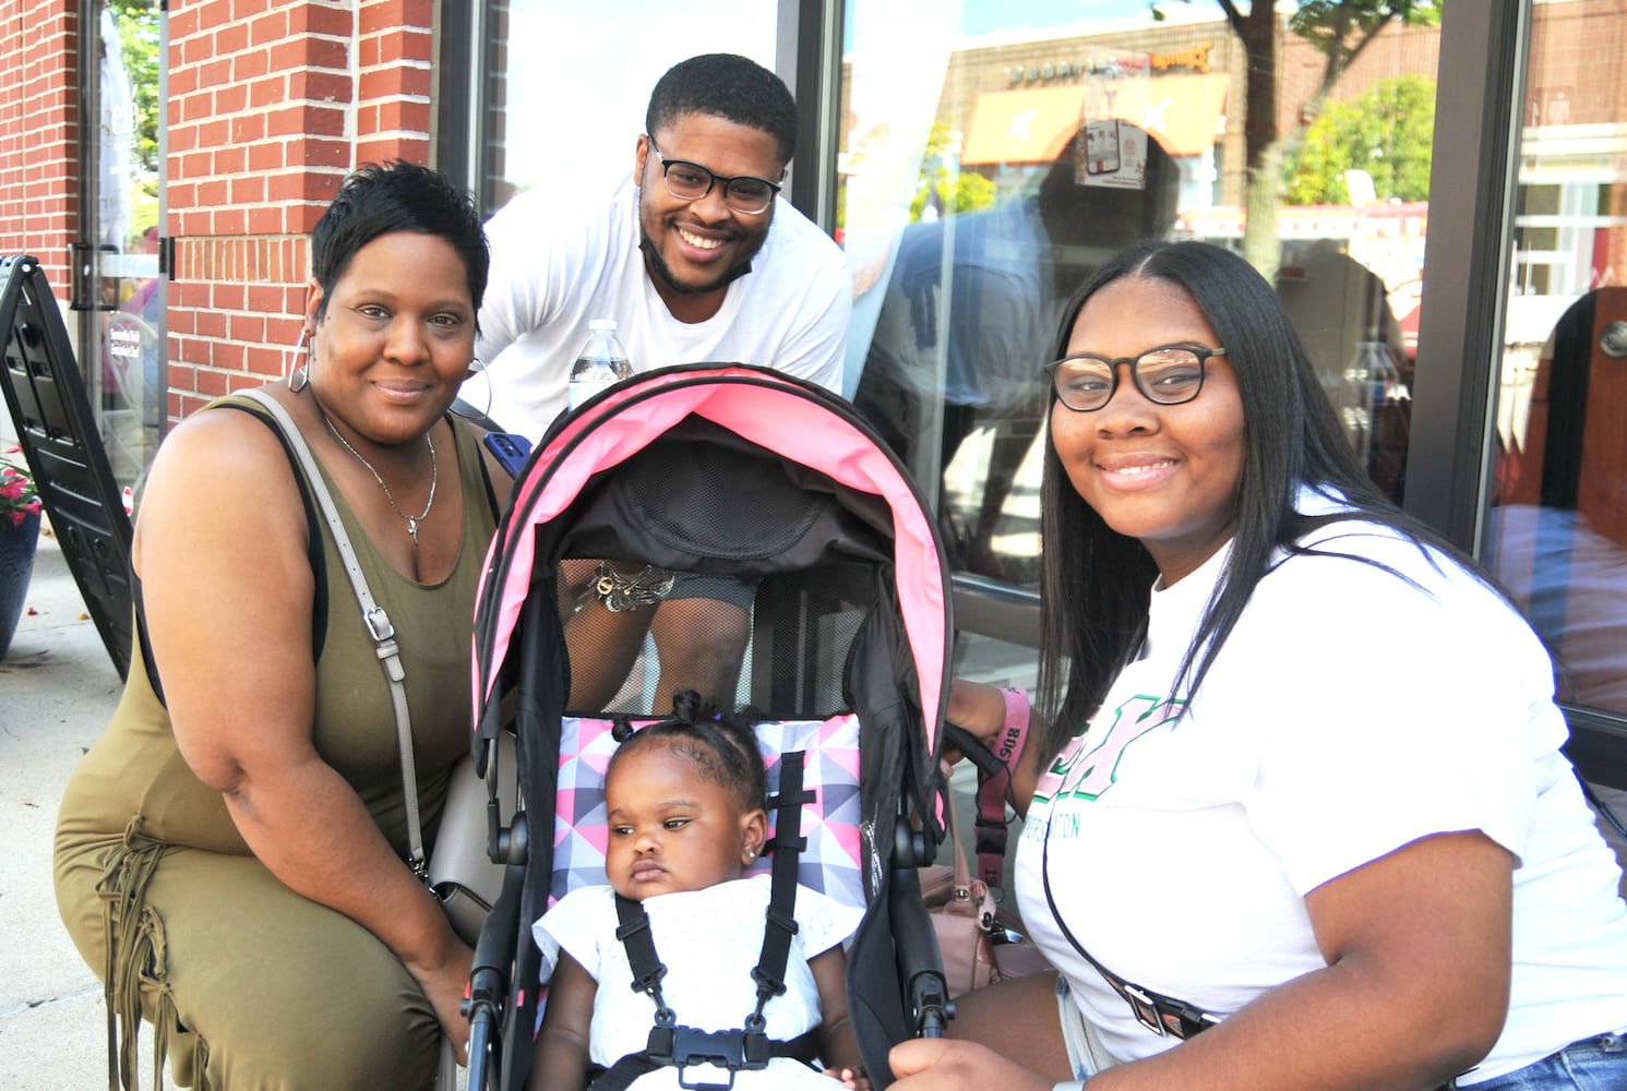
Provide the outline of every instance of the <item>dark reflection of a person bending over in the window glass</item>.
[[[1088,137],[1077,130],[1033,193],[901,233],[854,393],[906,463],[942,468],[950,563],[1017,584],[1038,582],[1040,364],[1056,356],[1062,304],[1103,257],[1175,226],[1180,172],[1162,145],[1114,122],[1103,159]],[[1134,185],[1092,169],[1126,159]]]

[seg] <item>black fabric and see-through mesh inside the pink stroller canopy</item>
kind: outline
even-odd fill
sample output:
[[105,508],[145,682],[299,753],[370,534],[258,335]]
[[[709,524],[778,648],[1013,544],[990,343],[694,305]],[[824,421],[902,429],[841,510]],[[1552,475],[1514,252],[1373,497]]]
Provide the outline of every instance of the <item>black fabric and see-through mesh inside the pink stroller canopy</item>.
[[[732,660],[742,632],[750,634],[739,689],[704,696],[752,704],[776,719],[846,711],[843,670],[877,606],[875,566],[888,548],[854,504],[866,502],[828,476],[695,418],[602,475],[582,491],[556,550],[561,610],[571,616],[566,659],[573,680],[591,680],[573,686],[566,707],[670,712],[654,701],[656,642],[644,641],[630,660],[607,654],[618,645],[612,631],[626,618],[586,608],[595,584],[607,579],[605,563],[646,584],[677,574],[680,582],[665,598],[685,598],[682,637],[706,649],[704,657]],[[724,602],[711,597],[718,580]]]

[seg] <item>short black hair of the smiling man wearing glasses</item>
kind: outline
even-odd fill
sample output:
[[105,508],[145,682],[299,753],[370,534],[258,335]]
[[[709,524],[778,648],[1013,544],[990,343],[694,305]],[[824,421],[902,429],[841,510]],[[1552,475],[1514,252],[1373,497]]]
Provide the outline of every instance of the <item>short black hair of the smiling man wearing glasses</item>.
[[763,130],[779,148],[779,166],[796,154],[796,99],[779,76],[750,57],[701,54],[667,68],[649,93],[644,132],[656,135],[685,114],[708,114]]

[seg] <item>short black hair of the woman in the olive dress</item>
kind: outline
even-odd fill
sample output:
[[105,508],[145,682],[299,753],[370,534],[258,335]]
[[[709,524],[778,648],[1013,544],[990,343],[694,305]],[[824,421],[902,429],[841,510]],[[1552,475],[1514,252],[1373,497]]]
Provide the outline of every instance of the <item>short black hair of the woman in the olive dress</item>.
[[400,159],[356,167],[311,231],[311,275],[322,286],[321,312],[361,247],[397,231],[446,239],[464,259],[469,299],[480,314],[491,247],[475,198],[439,171]]

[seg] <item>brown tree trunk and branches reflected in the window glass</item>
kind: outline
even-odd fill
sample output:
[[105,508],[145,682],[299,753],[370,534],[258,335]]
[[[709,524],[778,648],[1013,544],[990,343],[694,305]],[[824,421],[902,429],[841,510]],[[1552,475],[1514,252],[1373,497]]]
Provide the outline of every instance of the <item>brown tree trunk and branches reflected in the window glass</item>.
[[[1220,5],[1227,24],[1248,54],[1243,122],[1248,192],[1243,198],[1246,216],[1243,257],[1269,278],[1276,275],[1280,252],[1277,190],[1284,164],[1298,151],[1306,127],[1321,114],[1333,88],[1385,26],[1389,23],[1435,26],[1440,23],[1442,0],[1298,0],[1287,21],[1289,31],[1316,46],[1324,60],[1316,89],[1302,104],[1300,120],[1289,132],[1277,130],[1280,50],[1276,3],[1256,0],[1246,11],[1238,8],[1237,0],[1215,0],[1215,3]],[[1163,18],[1158,3],[1150,7],[1155,20]]]

